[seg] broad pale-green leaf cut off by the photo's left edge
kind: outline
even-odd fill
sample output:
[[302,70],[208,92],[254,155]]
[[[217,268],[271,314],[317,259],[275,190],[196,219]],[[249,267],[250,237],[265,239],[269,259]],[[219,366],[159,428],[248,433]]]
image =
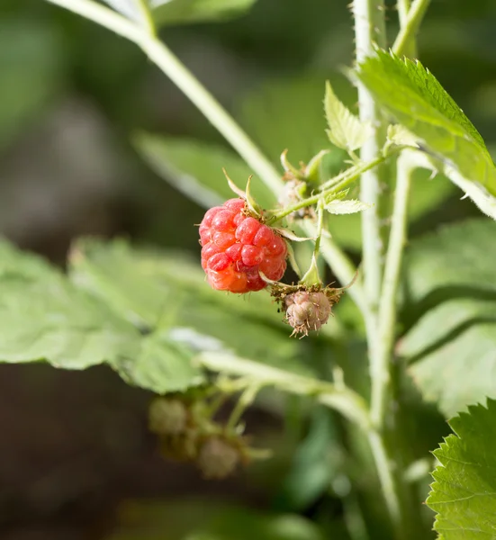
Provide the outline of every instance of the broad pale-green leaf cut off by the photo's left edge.
[[140,349],[140,333],[41,258],[0,243],[0,362],[85,369]]

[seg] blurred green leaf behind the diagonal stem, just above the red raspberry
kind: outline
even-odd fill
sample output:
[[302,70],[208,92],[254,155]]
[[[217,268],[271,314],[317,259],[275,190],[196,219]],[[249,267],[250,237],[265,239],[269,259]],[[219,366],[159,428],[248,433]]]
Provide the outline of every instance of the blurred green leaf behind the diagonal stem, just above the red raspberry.
[[[140,133],[135,138],[135,145],[158,175],[205,208],[237,196],[230,190],[222,168],[241,189],[252,174],[241,158],[229,149],[194,139]],[[252,179],[250,188],[262,207],[274,206],[274,195],[257,177]]]

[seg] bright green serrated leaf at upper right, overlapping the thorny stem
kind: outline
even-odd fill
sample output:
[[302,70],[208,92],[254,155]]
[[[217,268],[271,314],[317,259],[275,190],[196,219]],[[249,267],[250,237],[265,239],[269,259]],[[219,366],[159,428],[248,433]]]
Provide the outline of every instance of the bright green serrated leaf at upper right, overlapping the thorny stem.
[[[357,77],[395,121],[447,166],[455,166],[482,198],[496,195],[496,167],[479,132],[419,61],[383,50],[367,58]],[[470,194],[477,202],[478,195]]]

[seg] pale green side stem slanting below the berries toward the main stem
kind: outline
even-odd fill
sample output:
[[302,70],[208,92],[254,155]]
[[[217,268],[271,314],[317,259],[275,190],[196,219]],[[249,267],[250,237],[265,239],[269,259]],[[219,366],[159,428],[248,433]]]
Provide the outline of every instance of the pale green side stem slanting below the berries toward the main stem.
[[247,380],[248,385],[273,386],[284,392],[302,396],[314,396],[317,401],[338,410],[345,418],[361,428],[369,428],[369,417],[364,399],[349,388],[337,388],[332,383],[292,374],[229,353],[202,353],[198,363],[221,374],[230,374]]

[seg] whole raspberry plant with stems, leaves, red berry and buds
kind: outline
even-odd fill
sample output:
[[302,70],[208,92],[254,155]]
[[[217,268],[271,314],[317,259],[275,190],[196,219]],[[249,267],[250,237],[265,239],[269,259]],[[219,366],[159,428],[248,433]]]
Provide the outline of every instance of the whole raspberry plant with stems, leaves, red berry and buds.
[[[298,166],[290,145],[277,148],[282,167],[157,33],[162,24],[241,13],[253,0],[48,1],[136,43],[239,158],[202,143],[191,154],[180,140],[136,139],[152,166],[205,206],[199,234],[208,283],[195,262],[179,260],[178,272],[178,256],[119,240],[77,242],[67,274],[2,242],[0,359],[111,365],[165,396],[149,417],[163,453],[212,478],[264,454],[248,446],[241,420],[261,389],[299,396],[345,420],[333,439],[342,456],[336,470],[327,462],[317,470],[320,492],[332,490],[359,517],[353,527],[348,515],[343,537],[413,540],[432,527],[445,540],[496,537],[496,167],[472,122],[416,59],[429,0],[397,0],[392,41],[383,1],[354,0],[356,62],[347,78],[357,114],[322,80],[325,145]],[[248,104],[249,124],[256,114]],[[428,184],[420,170],[439,186],[421,204]],[[409,211],[435,207],[448,182],[486,217],[409,241]],[[244,188],[234,188],[239,198],[228,184]],[[286,265],[292,274],[284,278]],[[250,293],[248,302],[240,293]],[[283,319],[304,339],[290,339]],[[318,356],[324,369],[313,362]],[[234,406],[221,421],[216,413],[228,397]],[[437,466],[423,438],[427,403],[455,431],[434,452]]]

